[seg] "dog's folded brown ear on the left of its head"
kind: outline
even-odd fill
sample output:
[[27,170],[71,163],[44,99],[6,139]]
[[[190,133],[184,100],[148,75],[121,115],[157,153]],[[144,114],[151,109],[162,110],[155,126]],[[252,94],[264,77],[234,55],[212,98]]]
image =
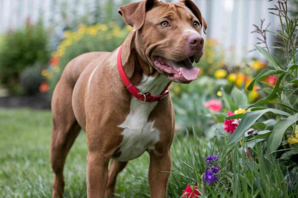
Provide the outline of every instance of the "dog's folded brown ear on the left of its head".
[[137,31],[144,24],[146,11],[152,8],[157,2],[157,0],[144,0],[130,3],[120,7],[118,13],[122,16],[126,24],[133,27],[134,31]]

